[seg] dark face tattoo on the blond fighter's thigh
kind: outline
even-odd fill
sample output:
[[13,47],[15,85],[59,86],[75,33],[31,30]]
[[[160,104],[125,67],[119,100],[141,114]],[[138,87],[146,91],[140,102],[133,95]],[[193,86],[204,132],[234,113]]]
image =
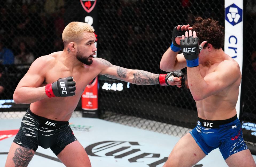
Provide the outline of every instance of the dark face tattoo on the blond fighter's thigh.
[[32,149],[21,147],[17,148],[14,152],[13,161],[15,167],[25,167],[29,164],[33,157]]

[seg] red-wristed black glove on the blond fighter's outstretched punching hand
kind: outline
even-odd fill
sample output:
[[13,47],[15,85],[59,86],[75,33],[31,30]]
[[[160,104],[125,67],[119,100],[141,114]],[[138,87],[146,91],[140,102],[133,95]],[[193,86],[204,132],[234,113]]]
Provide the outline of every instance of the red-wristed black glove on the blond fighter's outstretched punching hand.
[[176,70],[176,71],[172,71],[172,72],[169,72],[169,73],[167,73],[167,74],[159,74],[159,77],[158,77],[158,79],[159,79],[159,84],[161,85],[161,86],[172,86],[172,85],[169,85],[168,84],[168,80],[169,81],[171,81],[171,82],[173,82],[174,80],[172,79],[174,76],[176,76],[176,77],[180,77],[181,76],[181,88],[184,88],[185,87],[185,78],[184,78],[184,74],[183,74],[183,72],[182,71],[180,71],[180,70]]

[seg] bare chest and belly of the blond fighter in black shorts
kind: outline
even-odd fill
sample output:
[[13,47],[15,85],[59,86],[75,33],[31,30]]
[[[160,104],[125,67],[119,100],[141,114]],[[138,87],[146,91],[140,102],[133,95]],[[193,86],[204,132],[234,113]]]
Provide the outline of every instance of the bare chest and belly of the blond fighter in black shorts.
[[45,81],[42,83],[41,87],[57,81],[58,78],[73,76],[73,79],[76,81],[76,95],[70,97],[45,98],[31,103],[30,110],[41,117],[56,121],[68,121],[76,108],[85,87],[100,73],[101,70],[96,68],[97,62],[95,61],[89,66],[83,64],[70,69],[59,60],[61,54],[62,52],[55,52],[47,55],[55,57],[55,60],[57,61],[54,67],[46,72]]

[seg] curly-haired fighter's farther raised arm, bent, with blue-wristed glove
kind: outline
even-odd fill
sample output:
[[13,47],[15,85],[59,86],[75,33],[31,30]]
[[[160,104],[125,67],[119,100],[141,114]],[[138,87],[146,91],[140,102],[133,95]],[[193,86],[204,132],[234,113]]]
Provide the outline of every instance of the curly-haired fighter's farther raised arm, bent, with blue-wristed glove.
[[178,25],[172,31],[172,44],[163,54],[160,61],[160,69],[163,71],[180,70],[186,67],[186,60],[183,54],[178,54],[180,51],[180,39],[185,35],[185,31],[191,30],[188,25]]

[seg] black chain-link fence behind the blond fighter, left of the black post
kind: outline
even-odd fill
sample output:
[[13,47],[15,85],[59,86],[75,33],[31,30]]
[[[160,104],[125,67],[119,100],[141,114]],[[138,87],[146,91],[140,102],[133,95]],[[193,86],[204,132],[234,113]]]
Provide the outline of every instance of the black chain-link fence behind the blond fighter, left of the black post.
[[[63,50],[62,31],[80,21],[80,1],[1,1],[0,118],[16,118],[29,105],[14,104],[13,92],[31,63],[42,55]],[[72,4],[72,5],[70,5]],[[81,7],[82,8],[82,7]],[[77,109],[81,109],[81,102]]]

